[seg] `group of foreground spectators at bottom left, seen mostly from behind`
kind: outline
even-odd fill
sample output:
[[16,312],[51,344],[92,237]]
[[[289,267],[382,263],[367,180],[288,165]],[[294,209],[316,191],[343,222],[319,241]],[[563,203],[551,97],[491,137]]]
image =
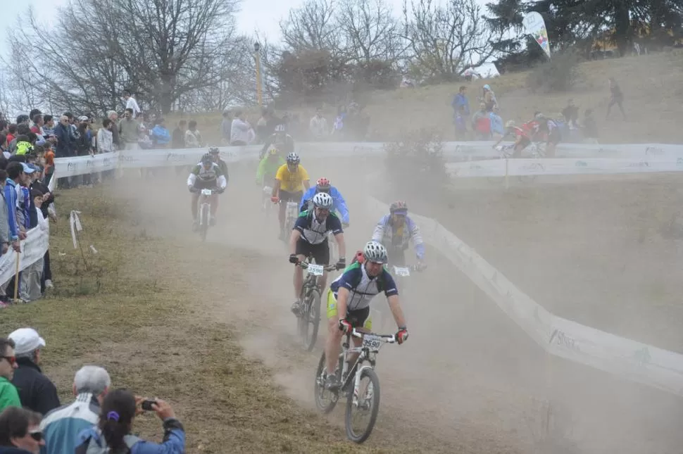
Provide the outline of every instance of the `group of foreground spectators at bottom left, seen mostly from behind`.
[[[54,383],[40,368],[45,340],[20,328],[0,339],[0,454],[181,454],[185,432],[161,399],[111,389],[103,368],[84,365],[75,374],[73,401],[62,405]],[[161,443],[132,434],[134,419],[155,412]]]

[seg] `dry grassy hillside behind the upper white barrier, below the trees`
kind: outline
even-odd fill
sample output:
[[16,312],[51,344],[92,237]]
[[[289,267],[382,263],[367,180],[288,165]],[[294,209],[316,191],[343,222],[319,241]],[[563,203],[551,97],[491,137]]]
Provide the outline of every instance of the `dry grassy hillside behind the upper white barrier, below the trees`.
[[[372,92],[363,94],[358,101],[365,104],[365,111],[372,119],[370,129],[375,140],[390,140],[400,131],[420,127],[436,128],[446,140],[452,140],[453,94],[460,85],[465,85],[470,106],[476,109],[477,96],[487,83],[496,93],[503,120],[529,120],[534,111],[557,113],[572,98],[579,107],[579,118],[585,109],[594,109],[603,143],[679,143],[683,137],[679,131],[683,122],[682,70],[683,52],[673,51],[581,63],[579,80],[569,92],[533,93],[527,87],[529,72],[515,72],[491,80]],[[609,119],[605,118],[610,99],[608,77],[615,77],[624,92],[627,120],[622,119],[618,109],[613,109]],[[290,111],[299,113],[308,122],[315,107],[297,107]],[[325,106],[328,122],[334,113],[334,106]],[[205,137],[218,138],[220,114],[194,117]],[[254,113],[250,120],[255,124],[258,114]]]

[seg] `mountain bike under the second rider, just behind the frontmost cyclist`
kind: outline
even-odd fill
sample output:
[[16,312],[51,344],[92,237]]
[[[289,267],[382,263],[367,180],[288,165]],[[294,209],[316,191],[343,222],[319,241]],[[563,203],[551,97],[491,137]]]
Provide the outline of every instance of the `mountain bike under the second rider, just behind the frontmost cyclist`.
[[320,327],[320,296],[322,290],[318,285],[318,277],[322,276],[325,271],[337,270],[336,265],[316,265],[311,263],[313,256],[308,256],[306,260],[299,262],[297,266],[306,270],[306,276],[303,278],[303,286],[301,287],[301,309],[299,315],[296,315],[296,328],[301,336],[301,343],[306,351],[313,350],[315,341],[318,340],[318,328]]

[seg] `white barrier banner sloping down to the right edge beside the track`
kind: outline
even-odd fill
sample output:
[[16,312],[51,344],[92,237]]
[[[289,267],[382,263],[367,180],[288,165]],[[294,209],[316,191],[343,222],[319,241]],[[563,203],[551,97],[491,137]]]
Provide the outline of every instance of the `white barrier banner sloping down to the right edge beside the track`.
[[[389,210],[372,197],[368,208],[377,215]],[[683,396],[683,355],[556,317],[437,221],[411,217],[424,229],[425,243],[444,253],[548,353]]]

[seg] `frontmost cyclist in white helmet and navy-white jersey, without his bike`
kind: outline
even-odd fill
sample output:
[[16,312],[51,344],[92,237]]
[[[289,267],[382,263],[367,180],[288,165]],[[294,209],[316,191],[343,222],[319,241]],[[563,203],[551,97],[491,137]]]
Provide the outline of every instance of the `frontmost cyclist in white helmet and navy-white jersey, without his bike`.
[[[394,315],[396,341],[403,343],[408,339],[406,317],[403,316],[399,303],[399,289],[384,264],[387,263],[387,248],[377,241],[369,241],[363,248],[361,260],[354,260],[344,273],[334,279],[327,291],[327,342],[325,358],[327,360],[328,389],[339,388],[339,381],[334,374],[339,358],[339,343],[345,333],[351,329],[365,327],[372,329],[370,317],[370,301],[380,292],[384,292]],[[361,346],[362,339],[353,338],[356,347]],[[353,363],[353,358],[351,358]],[[353,371],[351,372],[353,373]]]

